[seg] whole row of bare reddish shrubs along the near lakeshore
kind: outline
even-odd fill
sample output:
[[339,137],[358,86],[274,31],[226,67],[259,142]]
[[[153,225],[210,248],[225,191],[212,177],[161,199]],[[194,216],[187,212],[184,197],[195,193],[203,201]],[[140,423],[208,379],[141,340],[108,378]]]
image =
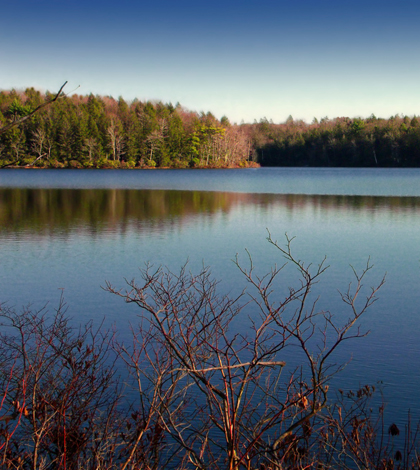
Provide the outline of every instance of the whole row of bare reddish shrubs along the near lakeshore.
[[[376,300],[371,266],[341,294],[340,321],[312,292],[327,267],[285,258],[259,276],[236,260],[247,290],[220,296],[207,268],[147,266],[141,281],[107,290],[139,306],[130,344],[89,323],[2,306],[0,458],[4,468],[411,468],[417,433],[385,440],[373,388],[329,385],[336,350],[364,336]],[[294,268],[297,278],[287,287]],[[293,270],[292,270],[293,271]],[[287,288],[285,288],[285,286]],[[283,295],[281,297],[281,295]],[[364,295],[364,299],[359,299]],[[356,306],[356,300],[359,299]],[[238,332],[238,322],[241,331]],[[246,328],[246,324],[248,327]],[[298,361],[296,360],[298,358]],[[399,432],[399,430],[398,430]]]

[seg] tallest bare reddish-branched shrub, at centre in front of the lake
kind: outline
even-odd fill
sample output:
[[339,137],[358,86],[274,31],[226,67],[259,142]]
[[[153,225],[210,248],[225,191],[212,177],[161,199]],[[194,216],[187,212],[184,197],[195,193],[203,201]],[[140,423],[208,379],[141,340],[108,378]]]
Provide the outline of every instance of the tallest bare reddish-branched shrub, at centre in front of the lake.
[[[318,311],[311,296],[327,269],[324,261],[306,266],[293,256],[291,240],[286,248],[268,240],[286,263],[259,277],[251,257],[247,268],[237,260],[252,290],[234,298],[217,294],[208,269],[193,275],[186,266],[179,274],[148,266],[142,283],[130,281],[126,291],[107,286],[141,308],[136,336],[147,344],[142,365],[136,359],[131,366],[159,390],[160,426],[184,449],[181,460],[194,468],[312,465],[305,443],[323,416],[329,382],[342,368],[334,352],[344,341],[364,336],[355,325],[384,282],[357,309],[371,265],[361,275],[354,272],[356,285],[342,295],[349,317],[339,324],[329,312]],[[278,283],[287,263],[299,279],[280,299]],[[245,306],[251,311],[248,333],[235,332]],[[303,363],[287,367],[286,348],[293,346]]]

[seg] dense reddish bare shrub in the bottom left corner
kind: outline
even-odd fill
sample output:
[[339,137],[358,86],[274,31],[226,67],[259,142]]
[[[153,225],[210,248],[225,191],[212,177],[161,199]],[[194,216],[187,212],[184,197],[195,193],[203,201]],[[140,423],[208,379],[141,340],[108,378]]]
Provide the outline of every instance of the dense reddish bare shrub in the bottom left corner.
[[0,437],[6,467],[76,468],[112,444],[120,387],[109,332],[70,327],[65,310],[62,302],[53,315],[1,307],[1,392],[14,408]]

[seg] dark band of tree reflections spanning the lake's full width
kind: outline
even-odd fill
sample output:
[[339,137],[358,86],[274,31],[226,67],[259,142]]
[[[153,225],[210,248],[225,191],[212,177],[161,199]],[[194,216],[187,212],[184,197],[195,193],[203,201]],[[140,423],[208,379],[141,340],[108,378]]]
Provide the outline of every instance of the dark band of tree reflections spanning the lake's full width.
[[196,216],[229,213],[238,206],[323,211],[408,213],[420,211],[420,198],[378,196],[308,196],[204,191],[121,189],[2,189],[3,233],[66,234],[83,230],[125,233],[128,229],[170,230]]

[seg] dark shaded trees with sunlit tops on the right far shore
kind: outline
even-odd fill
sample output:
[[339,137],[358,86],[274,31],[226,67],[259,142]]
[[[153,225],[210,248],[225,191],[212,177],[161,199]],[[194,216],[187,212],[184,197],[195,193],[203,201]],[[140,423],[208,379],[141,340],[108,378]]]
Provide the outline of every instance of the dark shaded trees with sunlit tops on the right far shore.
[[409,116],[389,119],[338,117],[267,119],[250,127],[257,160],[263,166],[418,167],[420,122]]

